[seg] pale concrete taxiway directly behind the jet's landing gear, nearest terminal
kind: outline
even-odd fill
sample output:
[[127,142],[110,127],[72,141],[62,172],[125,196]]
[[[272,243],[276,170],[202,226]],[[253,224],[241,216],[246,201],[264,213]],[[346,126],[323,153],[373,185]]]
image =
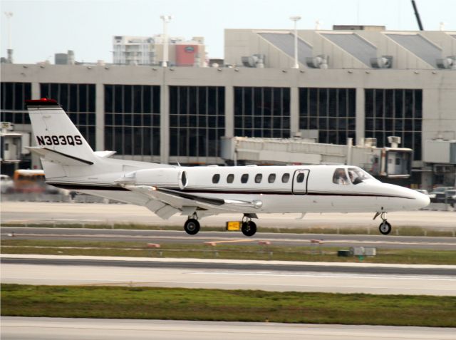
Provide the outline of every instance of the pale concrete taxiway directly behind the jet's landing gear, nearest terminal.
[[[418,210],[390,212],[388,221],[394,227],[455,228],[455,212]],[[224,227],[228,220],[242,216],[223,214],[204,217],[204,226]],[[372,220],[373,213],[353,214],[259,214],[259,227],[366,227],[378,229],[380,220]],[[163,221],[145,207],[124,204],[55,203],[55,202],[1,202],[1,223],[141,223],[146,225],[182,226],[186,217],[175,215]],[[299,219],[299,220],[297,220]]]

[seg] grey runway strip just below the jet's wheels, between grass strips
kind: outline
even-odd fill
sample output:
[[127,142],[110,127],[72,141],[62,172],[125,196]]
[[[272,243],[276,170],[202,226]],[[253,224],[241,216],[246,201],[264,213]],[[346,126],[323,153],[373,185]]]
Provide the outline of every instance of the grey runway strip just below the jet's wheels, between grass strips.
[[204,242],[239,240],[239,244],[257,244],[266,240],[272,245],[309,246],[311,239],[322,240],[322,247],[379,247],[389,249],[421,248],[456,250],[456,237],[409,237],[383,235],[280,234],[258,232],[244,237],[240,232],[199,232],[187,235],[175,230],[108,230],[82,228],[2,227],[1,239],[59,239],[71,241],[130,241],[145,243],[203,244]]

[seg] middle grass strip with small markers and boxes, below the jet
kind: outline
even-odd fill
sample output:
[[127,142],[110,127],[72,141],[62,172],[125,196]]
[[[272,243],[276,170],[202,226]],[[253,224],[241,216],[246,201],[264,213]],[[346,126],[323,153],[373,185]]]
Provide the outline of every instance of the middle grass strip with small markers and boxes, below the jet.
[[377,249],[375,257],[338,257],[341,247],[262,246],[258,244],[163,243],[148,249],[147,242],[86,242],[45,239],[2,239],[3,254],[53,254],[199,259],[273,259],[311,262],[367,262],[390,264],[456,264],[456,252],[437,249]]

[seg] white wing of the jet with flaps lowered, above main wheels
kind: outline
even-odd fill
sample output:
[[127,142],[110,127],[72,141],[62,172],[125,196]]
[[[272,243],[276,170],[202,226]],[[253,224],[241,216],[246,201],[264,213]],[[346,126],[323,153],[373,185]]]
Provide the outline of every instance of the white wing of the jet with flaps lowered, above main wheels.
[[149,185],[127,185],[125,188],[150,197],[145,207],[165,220],[178,212],[182,215],[192,215],[196,210],[209,210],[210,215],[213,212],[252,212],[252,208],[262,205],[260,201],[224,200]]

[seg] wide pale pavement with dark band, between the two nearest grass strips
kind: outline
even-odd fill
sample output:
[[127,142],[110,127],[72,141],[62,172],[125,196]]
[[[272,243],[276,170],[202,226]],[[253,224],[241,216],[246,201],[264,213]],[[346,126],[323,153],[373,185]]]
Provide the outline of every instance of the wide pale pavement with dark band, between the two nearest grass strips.
[[1,282],[456,296],[456,266],[2,254]]

